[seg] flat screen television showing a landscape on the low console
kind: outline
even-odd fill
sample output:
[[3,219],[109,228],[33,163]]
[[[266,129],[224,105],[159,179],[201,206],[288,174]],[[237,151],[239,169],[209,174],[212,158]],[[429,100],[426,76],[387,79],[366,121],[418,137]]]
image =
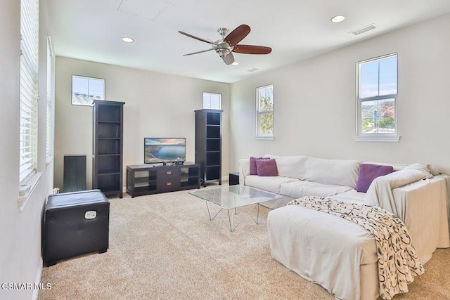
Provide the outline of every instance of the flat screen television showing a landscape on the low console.
[[186,160],[186,138],[144,138],[145,164],[182,164]]

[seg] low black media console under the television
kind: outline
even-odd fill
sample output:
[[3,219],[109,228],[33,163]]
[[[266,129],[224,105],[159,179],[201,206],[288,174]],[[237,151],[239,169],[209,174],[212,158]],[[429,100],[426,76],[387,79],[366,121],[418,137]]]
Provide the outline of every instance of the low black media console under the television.
[[191,188],[200,188],[199,164],[127,166],[127,193],[131,197]]

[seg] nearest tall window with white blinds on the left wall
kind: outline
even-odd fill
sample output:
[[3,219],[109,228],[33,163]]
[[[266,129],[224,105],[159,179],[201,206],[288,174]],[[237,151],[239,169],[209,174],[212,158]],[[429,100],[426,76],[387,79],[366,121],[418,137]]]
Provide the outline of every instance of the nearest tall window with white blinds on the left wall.
[[20,0],[20,184],[37,164],[39,1]]

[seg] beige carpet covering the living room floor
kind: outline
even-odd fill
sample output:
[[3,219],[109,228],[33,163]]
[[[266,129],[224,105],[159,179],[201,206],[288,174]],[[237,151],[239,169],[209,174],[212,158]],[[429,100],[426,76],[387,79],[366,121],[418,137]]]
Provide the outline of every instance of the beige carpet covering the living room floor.
[[[450,299],[450,249],[438,249],[410,292]],[[334,299],[270,256],[265,220],[231,233],[186,191],[110,199],[110,248],[46,267],[39,299]]]

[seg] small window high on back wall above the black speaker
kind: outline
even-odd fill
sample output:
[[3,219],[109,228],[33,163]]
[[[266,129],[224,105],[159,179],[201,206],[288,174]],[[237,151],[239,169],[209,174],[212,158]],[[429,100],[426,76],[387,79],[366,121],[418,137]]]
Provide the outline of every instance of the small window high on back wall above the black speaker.
[[105,79],[72,75],[72,104],[94,105],[105,100]]

